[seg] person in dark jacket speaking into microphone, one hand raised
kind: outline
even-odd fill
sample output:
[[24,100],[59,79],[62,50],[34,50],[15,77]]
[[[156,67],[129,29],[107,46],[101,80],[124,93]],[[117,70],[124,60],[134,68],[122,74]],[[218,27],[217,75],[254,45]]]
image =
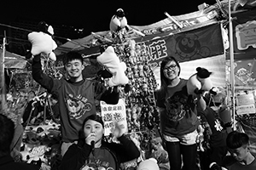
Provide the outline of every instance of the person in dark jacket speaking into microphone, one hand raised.
[[120,163],[140,156],[136,144],[124,135],[124,129],[116,124],[113,135],[119,144],[103,140],[102,117],[90,115],[84,120],[84,139],[73,144],[61,161],[61,170],[79,169],[120,169]]

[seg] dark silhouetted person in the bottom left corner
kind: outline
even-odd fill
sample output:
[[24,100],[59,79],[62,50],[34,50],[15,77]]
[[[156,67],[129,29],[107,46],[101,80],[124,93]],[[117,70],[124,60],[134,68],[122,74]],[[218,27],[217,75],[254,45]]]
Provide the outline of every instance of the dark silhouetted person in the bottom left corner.
[[0,113],[0,169],[11,170],[37,170],[39,167],[26,164],[24,162],[15,162],[10,156],[10,147],[15,135],[15,123],[12,122],[3,113]]

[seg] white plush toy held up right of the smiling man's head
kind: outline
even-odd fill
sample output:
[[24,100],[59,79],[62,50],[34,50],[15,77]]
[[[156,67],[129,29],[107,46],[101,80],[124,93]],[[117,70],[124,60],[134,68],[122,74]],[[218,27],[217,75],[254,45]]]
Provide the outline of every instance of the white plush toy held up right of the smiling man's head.
[[109,78],[108,85],[110,87],[125,85],[129,82],[128,77],[125,75],[125,62],[120,62],[112,46],[108,46],[108,48],[97,57],[97,61],[104,65],[113,75],[113,77]]

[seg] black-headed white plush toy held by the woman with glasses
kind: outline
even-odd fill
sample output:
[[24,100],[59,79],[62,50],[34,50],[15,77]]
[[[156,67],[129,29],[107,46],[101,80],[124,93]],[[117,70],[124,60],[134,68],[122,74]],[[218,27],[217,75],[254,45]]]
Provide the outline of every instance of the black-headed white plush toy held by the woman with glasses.
[[203,94],[213,88],[210,79],[212,72],[202,67],[197,67],[196,71],[187,82],[188,94],[192,94],[194,97],[196,94]]

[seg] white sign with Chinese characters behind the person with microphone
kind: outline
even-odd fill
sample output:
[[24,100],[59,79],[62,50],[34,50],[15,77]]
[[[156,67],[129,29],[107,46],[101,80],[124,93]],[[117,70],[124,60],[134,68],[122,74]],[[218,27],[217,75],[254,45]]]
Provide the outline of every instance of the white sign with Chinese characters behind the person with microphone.
[[119,99],[117,105],[108,105],[101,101],[102,120],[104,122],[105,136],[113,133],[115,123],[118,123],[124,132],[128,132],[126,111],[125,111],[125,100]]

